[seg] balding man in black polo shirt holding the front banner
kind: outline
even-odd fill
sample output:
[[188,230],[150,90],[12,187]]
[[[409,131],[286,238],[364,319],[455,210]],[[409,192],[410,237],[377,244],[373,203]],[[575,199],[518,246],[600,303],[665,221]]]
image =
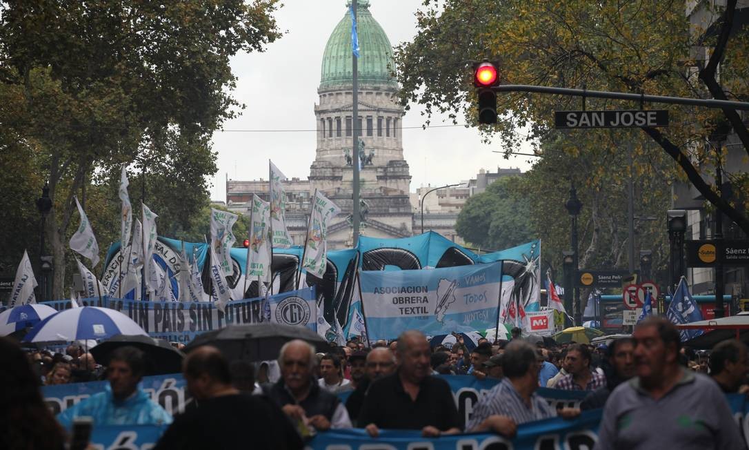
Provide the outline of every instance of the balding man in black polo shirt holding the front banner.
[[420,430],[425,437],[459,433],[458,408],[447,382],[431,376],[431,349],[424,335],[404,332],[395,348],[398,369],[372,383],[357,423],[372,437],[380,428]]

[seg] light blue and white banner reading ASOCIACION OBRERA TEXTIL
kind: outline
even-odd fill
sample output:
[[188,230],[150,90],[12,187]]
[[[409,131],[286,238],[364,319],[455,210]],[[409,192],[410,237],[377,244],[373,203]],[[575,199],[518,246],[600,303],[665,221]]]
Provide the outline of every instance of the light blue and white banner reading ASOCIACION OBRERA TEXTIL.
[[369,339],[397,338],[405,330],[434,336],[496,326],[501,268],[491,263],[360,272]]

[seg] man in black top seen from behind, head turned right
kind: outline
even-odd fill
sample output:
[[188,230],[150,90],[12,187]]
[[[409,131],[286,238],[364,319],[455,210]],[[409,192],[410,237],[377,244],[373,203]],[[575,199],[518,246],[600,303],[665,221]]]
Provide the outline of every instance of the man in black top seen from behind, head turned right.
[[154,449],[302,449],[279,407],[231,385],[227,360],[215,347],[189,353],[183,374],[198,407],[177,416]]

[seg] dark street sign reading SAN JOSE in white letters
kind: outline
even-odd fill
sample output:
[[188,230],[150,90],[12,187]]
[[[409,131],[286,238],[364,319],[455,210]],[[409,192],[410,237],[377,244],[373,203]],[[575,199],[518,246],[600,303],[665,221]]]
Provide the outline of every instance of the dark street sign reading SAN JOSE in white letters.
[[557,128],[667,127],[668,110],[555,111]]

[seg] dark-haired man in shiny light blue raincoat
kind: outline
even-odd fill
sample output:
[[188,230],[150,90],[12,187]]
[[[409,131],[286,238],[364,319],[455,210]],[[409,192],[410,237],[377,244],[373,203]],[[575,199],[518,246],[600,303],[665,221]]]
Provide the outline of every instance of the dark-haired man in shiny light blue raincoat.
[[106,369],[104,392],[91,397],[58,414],[60,424],[67,429],[76,417],[89,416],[97,425],[168,425],[172,416],[138,389],[143,378],[143,352],[135,347],[121,347],[110,357]]

